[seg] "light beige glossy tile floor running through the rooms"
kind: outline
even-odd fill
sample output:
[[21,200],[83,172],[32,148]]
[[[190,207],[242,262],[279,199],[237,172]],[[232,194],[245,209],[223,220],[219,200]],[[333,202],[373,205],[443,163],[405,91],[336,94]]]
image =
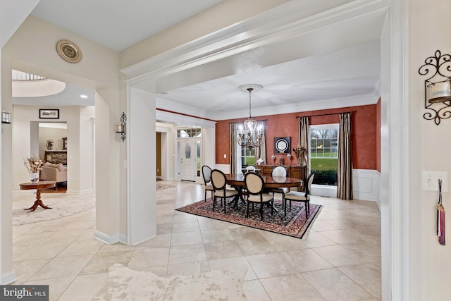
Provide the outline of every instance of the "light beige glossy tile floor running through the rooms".
[[114,263],[159,276],[247,265],[248,300],[381,300],[375,202],[311,197],[324,206],[300,240],[175,211],[203,199],[203,185],[159,184],[175,187],[156,193],[157,236],[135,247],[94,240],[94,209],[13,226],[13,284],[47,284],[50,300],[90,300]]

